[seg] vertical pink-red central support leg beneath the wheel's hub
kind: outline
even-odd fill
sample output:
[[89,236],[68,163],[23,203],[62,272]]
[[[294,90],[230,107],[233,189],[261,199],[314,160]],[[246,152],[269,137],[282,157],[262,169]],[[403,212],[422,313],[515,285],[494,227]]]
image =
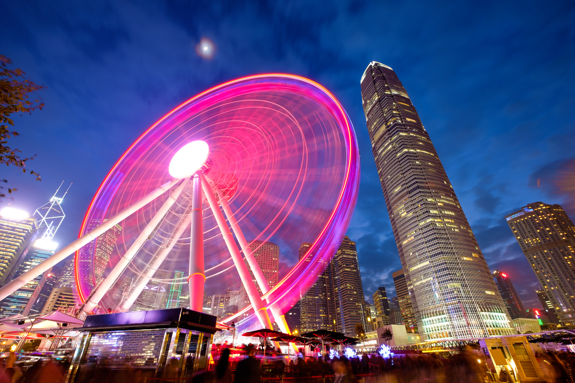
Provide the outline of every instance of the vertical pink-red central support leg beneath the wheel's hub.
[[[204,307],[204,226],[202,225],[202,180],[200,172],[193,178],[191,197],[190,266],[187,277],[190,289],[190,309],[202,312]],[[213,210],[213,207],[212,207]]]

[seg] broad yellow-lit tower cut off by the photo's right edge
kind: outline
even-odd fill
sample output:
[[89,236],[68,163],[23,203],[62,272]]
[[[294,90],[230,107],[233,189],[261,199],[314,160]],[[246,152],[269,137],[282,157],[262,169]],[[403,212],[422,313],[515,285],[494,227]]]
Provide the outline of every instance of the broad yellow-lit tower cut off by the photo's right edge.
[[575,323],[575,226],[571,219],[559,205],[534,202],[506,215],[505,220],[559,320]]

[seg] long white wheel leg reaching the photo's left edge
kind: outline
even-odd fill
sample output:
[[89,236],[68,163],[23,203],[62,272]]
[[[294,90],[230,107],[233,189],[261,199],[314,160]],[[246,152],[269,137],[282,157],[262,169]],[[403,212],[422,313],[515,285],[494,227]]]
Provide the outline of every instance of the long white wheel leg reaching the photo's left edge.
[[0,288],[0,300],[4,299],[5,297],[9,296],[11,293],[16,291],[17,289],[24,286],[29,281],[33,280],[41,273],[45,272],[49,268],[55,266],[60,261],[63,261],[68,257],[70,254],[74,253],[80,247],[86,245],[90,241],[98,238],[99,235],[104,234],[107,230],[112,228],[112,226],[116,225],[118,222],[128,218],[128,216],[132,215],[140,208],[146,206],[148,203],[152,202],[160,195],[164,194],[167,190],[173,187],[175,184],[180,181],[179,179],[171,180],[170,182],[163,184],[159,188],[152,191],[150,194],[144,196],[144,198],[140,199],[139,201],[131,204],[118,214],[114,215],[112,218],[109,218],[105,222],[103,222],[98,227],[95,227],[93,230],[89,231],[88,233],[82,235],[82,237],[76,239],[74,242],[70,243],[70,245],[64,247],[62,250],[52,254],[46,260],[41,262],[39,265],[34,266],[32,269],[28,270],[21,276],[18,276],[11,280],[9,283],[3,285]]

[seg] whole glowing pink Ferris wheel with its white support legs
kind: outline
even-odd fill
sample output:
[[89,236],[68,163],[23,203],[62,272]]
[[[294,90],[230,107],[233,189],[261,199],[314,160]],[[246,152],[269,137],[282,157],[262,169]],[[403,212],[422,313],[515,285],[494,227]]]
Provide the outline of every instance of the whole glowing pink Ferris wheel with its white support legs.
[[[243,284],[250,305],[222,321],[272,328],[273,319],[289,333],[283,314],[331,260],[358,183],[355,132],[329,91],[295,75],[232,80],[146,130],[98,188],[79,238],[0,288],[0,299],[75,253],[84,315],[129,311],[158,272],[179,271],[159,281],[187,285],[191,310]],[[295,264],[274,286],[254,256],[269,241]],[[313,245],[298,259],[301,242]]]

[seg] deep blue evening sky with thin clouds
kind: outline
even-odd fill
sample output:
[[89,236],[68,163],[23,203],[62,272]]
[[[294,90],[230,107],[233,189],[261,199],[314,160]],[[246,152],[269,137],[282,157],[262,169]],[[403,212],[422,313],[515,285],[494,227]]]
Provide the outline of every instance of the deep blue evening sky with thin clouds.
[[[166,5],[168,4],[168,5]],[[137,136],[208,87],[260,72],[329,88],[362,154],[348,235],[368,297],[400,268],[362,111],[371,60],[392,67],[430,133],[490,268],[528,307],[536,279],[503,216],[563,203],[575,218],[575,7],[570,1],[4,2],[0,54],[48,86],[11,144],[41,182],[4,169],[29,212],[73,182],[56,238],[72,241],[103,177]],[[212,60],[195,45],[208,37]],[[536,185],[540,179],[540,187]],[[371,298],[370,298],[371,299]]]

